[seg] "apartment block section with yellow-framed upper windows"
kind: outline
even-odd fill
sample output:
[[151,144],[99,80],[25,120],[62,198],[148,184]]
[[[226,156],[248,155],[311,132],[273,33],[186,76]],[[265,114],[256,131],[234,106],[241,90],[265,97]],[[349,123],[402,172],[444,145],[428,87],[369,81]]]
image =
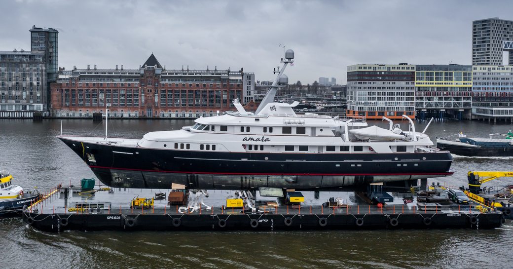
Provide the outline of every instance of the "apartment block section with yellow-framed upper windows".
[[417,65],[415,107],[417,117],[442,118],[445,114],[470,118],[472,67],[469,65]]

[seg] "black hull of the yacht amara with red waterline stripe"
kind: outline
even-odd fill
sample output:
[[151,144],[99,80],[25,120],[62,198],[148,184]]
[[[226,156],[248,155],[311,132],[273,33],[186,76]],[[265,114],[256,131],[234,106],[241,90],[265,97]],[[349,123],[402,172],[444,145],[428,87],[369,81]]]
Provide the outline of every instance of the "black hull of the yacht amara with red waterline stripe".
[[257,153],[151,149],[60,137],[104,184],[200,189],[335,188],[444,177],[452,156],[431,153]]

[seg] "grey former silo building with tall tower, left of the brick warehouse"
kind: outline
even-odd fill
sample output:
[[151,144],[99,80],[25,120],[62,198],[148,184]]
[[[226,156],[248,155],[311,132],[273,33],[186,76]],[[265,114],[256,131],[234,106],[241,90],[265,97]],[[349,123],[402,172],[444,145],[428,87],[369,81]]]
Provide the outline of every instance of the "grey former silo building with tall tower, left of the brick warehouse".
[[58,69],[58,31],[33,26],[31,51],[0,51],[0,118],[31,118],[48,111],[49,83]]

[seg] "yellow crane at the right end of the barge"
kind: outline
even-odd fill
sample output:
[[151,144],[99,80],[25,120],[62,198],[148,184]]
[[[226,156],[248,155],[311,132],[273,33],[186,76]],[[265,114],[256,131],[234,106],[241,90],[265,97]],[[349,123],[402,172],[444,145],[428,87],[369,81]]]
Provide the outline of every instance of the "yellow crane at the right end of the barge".
[[468,171],[467,179],[468,179],[468,191],[465,191],[465,194],[468,198],[480,203],[481,205],[487,207],[502,207],[500,203],[491,202],[487,198],[483,198],[479,196],[481,192],[481,184],[486,183],[488,181],[503,178],[503,177],[513,177],[513,172],[510,171]]

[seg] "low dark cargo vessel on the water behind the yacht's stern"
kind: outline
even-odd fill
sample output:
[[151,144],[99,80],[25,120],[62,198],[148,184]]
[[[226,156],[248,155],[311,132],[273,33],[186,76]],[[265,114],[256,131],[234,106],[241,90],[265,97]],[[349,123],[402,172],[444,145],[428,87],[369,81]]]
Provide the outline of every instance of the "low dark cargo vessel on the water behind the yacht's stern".
[[[456,135],[457,139],[449,140]],[[446,138],[437,138],[437,147],[467,157],[510,157],[513,156],[513,133],[509,130],[507,134],[490,134],[490,138],[468,138],[460,132]]]

